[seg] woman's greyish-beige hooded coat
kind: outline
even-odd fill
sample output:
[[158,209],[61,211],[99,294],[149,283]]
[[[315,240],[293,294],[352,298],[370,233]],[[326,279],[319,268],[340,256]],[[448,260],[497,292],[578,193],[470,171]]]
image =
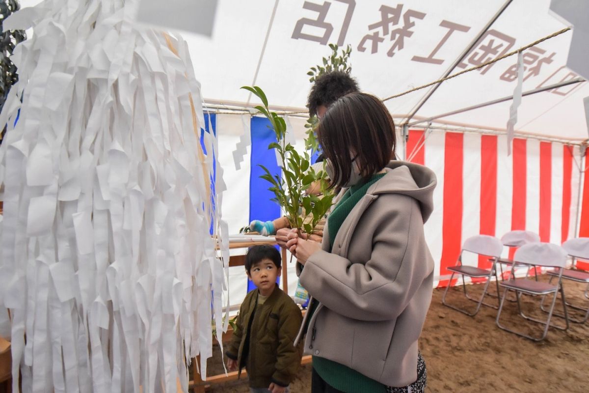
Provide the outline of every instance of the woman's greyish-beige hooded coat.
[[435,186],[432,170],[391,161],[342,223],[331,252],[325,227],[322,250],[300,274],[301,285],[320,302],[309,322],[307,354],[389,386],[416,380],[434,279],[423,223],[434,207]]

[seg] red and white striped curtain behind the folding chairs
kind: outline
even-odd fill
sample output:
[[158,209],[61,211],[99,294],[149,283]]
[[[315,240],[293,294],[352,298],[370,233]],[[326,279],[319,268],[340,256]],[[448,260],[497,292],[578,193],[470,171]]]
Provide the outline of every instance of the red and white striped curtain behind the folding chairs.
[[[436,286],[448,285],[446,268],[455,265],[467,237],[531,230],[558,245],[575,237],[578,146],[515,138],[507,156],[505,136],[409,130],[406,157],[438,176],[434,213],[425,225]],[[589,190],[584,200],[589,236]],[[513,252],[505,250],[505,256]],[[463,262],[488,266],[482,257]]]

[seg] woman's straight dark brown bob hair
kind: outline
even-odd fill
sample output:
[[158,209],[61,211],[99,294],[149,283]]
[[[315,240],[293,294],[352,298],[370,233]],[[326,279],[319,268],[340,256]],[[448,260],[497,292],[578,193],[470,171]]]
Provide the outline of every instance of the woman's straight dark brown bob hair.
[[373,95],[350,93],[330,105],[317,128],[317,139],[333,166],[331,187],[343,186],[352,173],[352,156],[364,180],[395,157],[395,123]]

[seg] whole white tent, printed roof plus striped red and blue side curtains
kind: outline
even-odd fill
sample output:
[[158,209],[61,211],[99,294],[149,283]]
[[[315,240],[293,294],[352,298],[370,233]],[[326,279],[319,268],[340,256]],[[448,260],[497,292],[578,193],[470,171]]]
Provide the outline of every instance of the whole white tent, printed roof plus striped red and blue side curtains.
[[[38,3],[21,1],[23,8]],[[256,97],[240,90],[241,86],[258,85],[277,111],[300,113],[286,118],[290,137],[302,150],[311,86],[306,73],[330,53],[328,43],[351,45],[352,75],[360,88],[386,98],[441,78],[479,35],[482,39],[474,52],[466,55],[465,66],[459,65],[452,73],[567,27],[549,14],[550,0],[512,0],[485,31],[505,4],[505,0],[389,2],[385,4],[389,8],[383,10],[389,12],[385,12],[385,19],[389,16],[391,23],[383,27],[383,4],[374,0],[220,0],[211,37],[181,32],[188,42],[203,97],[209,108],[214,108],[211,113],[217,113],[212,122],[219,137],[217,179],[222,177],[227,185],[222,209],[229,232],[236,233],[252,219],[273,219],[280,214],[277,210],[262,217],[252,210],[254,205],[277,209],[265,196],[260,197],[267,184],[256,183],[259,174],[255,172],[259,164],[267,164],[267,155],[274,153],[267,150],[269,142],[260,132],[266,126],[255,127],[254,120],[259,118],[232,111],[259,104]],[[381,40],[375,53],[372,41],[364,40],[367,35]],[[564,32],[524,52],[524,92],[578,78],[565,67],[572,35],[571,31]],[[359,50],[362,41],[365,51]],[[391,48],[393,55],[389,56]],[[512,95],[516,62],[514,55],[445,81],[412,121]],[[386,101],[396,124],[406,121],[428,91],[425,88]],[[580,82],[524,97],[515,130],[531,138],[518,140],[512,157],[507,156],[505,136],[485,138],[460,133],[504,133],[509,100],[435,121],[432,128],[448,132],[410,131],[408,158],[432,168],[438,177],[436,210],[426,224],[428,245],[436,261],[436,285],[447,281],[445,268],[455,263],[461,241],[468,236],[501,236],[508,230],[527,229],[540,233],[543,241],[561,243],[583,232],[583,149],[570,144],[587,140],[583,98],[588,95],[587,82]],[[415,128],[427,126],[422,123]],[[557,141],[542,143],[537,138]],[[236,146],[243,148],[238,154],[242,157],[240,167],[234,165]],[[403,156],[399,150],[399,156]],[[494,171],[487,171],[489,165]],[[488,181],[489,176],[496,181]],[[482,195],[495,199],[485,202]],[[587,226],[589,230],[589,216]],[[476,261],[472,264],[476,266]],[[247,284],[241,268],[231,273],[231,303],[236,304],[245,296]],[[294,275],[290,277],[295,279]],[[289,288],[294,290],[294,282]]]

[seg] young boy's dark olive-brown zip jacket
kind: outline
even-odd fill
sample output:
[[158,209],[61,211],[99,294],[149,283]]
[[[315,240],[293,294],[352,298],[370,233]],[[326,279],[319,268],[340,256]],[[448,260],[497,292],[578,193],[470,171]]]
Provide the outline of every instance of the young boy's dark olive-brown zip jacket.
[[300,367],[302,345],[295,347],[293,342],[303,317],[299,306],[278,286],[263,305],[257,304],[258,293],[252,290],[241,303],[226,355],[237,360],[239,375],[246,366],[250,387],[267,388],[272,382],[285,387]]

